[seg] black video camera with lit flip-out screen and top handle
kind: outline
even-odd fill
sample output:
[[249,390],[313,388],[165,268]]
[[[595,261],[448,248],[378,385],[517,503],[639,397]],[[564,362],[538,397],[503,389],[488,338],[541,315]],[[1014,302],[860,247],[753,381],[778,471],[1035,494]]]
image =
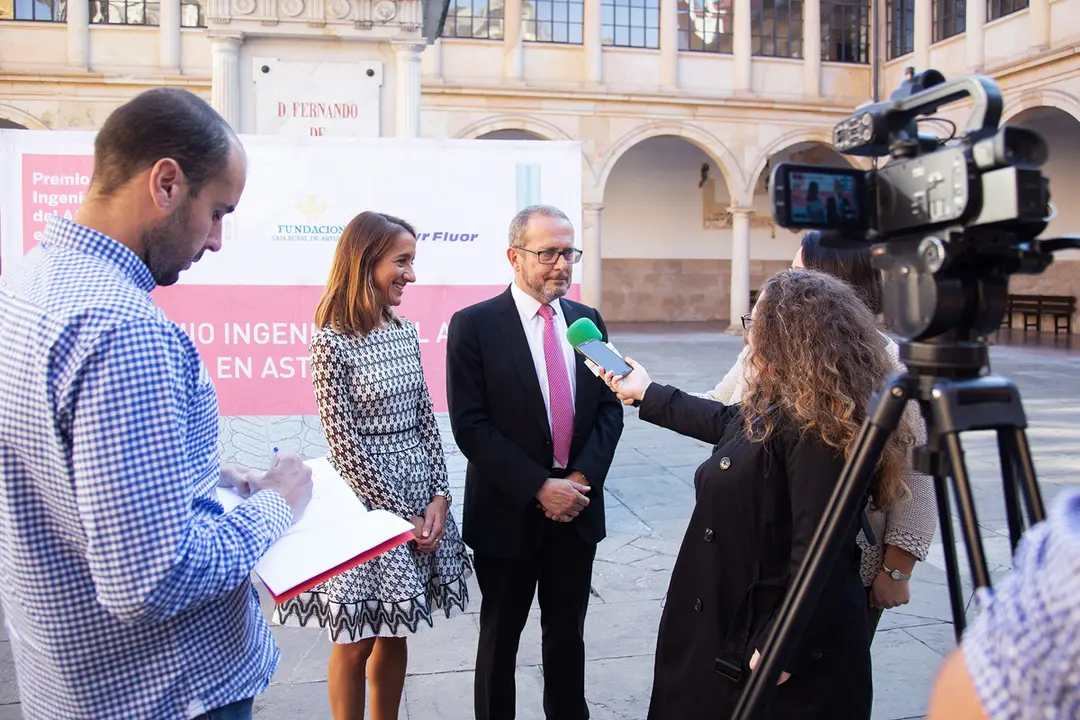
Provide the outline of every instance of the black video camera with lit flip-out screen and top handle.
[[[970,96],[968,132],[955,145],[919,132],[920,118]],[[904,80],[889,100],[839,122],[833,146],[847,155],[889,155],[879,169],[780,163],[770,187],[777,223],[828,229],[881,242],[949,226],[1008,228],[1027,237],[1045,228],[1047,144],[1025,127],[998,128],[1002,99],[989,78],[949,82],[936,70]]]

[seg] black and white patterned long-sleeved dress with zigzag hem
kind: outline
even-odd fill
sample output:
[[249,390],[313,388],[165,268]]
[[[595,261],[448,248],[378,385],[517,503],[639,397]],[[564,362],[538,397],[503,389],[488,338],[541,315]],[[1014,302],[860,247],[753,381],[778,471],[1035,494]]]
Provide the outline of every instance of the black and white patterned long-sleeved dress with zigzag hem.
[[[449,480],[420,366],[416,328],[389,323],[365,337],[329,328],[311,340],[311,373],[329,461],[370,510],[423,516]],[[472,567],[447,510],[432,553],[406,543],[278,606],[274,622],[329,629],[334,642],[406,637],[442,610],[465,609]]]

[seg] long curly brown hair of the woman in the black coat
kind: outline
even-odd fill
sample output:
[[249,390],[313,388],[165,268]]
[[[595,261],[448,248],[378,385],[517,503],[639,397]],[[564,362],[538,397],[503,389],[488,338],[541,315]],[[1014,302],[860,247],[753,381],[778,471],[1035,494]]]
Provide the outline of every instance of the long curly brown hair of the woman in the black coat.
[[[838,277],[801,269],[780,272],[761,287],[746,362],[742,413],[752,440],[765,441],[786,418],[845,457],[870,395],[893,369],[886,339],[856,291]],[[878,463],[874,508],[908,495],[906,453],[914,443],[904,419]]]

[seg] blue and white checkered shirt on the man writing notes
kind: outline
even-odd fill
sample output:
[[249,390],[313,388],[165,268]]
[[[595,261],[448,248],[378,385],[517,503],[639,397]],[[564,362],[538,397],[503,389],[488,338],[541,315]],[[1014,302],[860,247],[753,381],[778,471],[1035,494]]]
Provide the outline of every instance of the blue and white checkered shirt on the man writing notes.
[[119,242],[54,218],[0,279],[0,596],[23,715],[190,718],[280,652],[249,573],[292,522],[215,497],[217,395]]

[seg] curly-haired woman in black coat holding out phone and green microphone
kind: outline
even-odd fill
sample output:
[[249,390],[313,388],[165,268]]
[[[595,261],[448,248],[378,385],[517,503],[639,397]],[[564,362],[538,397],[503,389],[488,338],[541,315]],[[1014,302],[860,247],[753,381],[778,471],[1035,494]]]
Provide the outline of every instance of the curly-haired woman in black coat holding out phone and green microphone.
[[[604,375],[640,418],[715,444],[694,476],[697,503],[660,621],[650,720],[729,717],[787,585],[805,559],[866,415],[892,369],[874,315],[855,290],[811,270],[765,284],[748,327],[748,384],[727,406],[653,383],[626,362]],[[889,440],[873,495],[907,493],[906,422]],[[798,639],[769,717],[856,720],[872,705],[858,518]]]

